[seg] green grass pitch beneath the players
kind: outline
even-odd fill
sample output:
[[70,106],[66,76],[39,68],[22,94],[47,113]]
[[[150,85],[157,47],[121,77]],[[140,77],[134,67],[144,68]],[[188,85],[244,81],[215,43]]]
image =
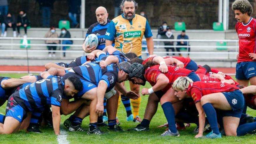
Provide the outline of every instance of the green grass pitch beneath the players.
[[[12,77],[12,78],[19,78],[26,74],[0,74],[4,77]],[[128,86],[126,85],[128,88]],[[150,88],[150,85],[147,83],[147,88]],[[140,107],[140,114],[139,116],[143,118],[145,107],[147,104],[148,96],[142,96],[141,99],[141,107]],[[5,113],[5,105],[0,107],[0,112]],[[256,116],[256,111],[248,108],[247,113],[252,116]],[[158,125],[161,125],[166,122],[166,118],[164,117],[163,110],[159,104],[159,108],[157,110],[156,115],[153,117],[150,123],[150,131],[147,132],[109,132],[108,135],[102,136],[88,136],[86,132],[70,132],[65,129],[63,122],[69,116],[61,116],[61,128],[66,131],[67,134],[67,141],[69,143],[80,144],[80,143],[141,143],[141,144],[148,144],[148,143],[256,143],[255,135],[246,135],[241,137],[223,137],[222,139],[195,139],[195,134],[193,133],[193,129],[195,125],[192,124],[191,127],[188,127],[186,130],[179,131],[180,137],[162,137],[160,134],[164,131],[165,128],[157,128]],[[127,122],[126,121],[126,112],[123,104],[121,103],[119,111],[118,111],[118,118],[121,122],[121,126],[123,129],[129,129],[135,127],[137,123],[134,122]],[[82,126],[88,129],[89,118],[85,118],[83,120]],[[30,144],[30,143],[58,143],[58,137],[54,135],[54,131],[52,128],[42,127],[40,130],[43,132],[41,134],[34,134],[34,133],[26,133],[25,131],[19,131],[16,134],[11,135],[0,135],[0,143],[2,144]],[[102,128],[102,130],[107,131],[107,128]],[[61,137],[59,137],[61,138]]]

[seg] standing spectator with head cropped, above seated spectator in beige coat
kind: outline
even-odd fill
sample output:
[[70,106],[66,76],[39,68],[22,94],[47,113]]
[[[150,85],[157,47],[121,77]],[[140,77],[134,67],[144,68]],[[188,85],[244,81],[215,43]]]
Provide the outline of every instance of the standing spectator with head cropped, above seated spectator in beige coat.
[[51,10],[55,0],[37,0],[42,10],[42,27],[50,26]]

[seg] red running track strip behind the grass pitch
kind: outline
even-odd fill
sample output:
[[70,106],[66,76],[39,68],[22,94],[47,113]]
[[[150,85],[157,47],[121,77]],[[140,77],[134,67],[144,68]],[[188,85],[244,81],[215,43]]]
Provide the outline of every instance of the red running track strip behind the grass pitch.
[[[227,74],[235,74],[236,73],[236,68],[234,67],[212,67],[216,68],[223,73]],[[28,67],[27,66],[14,66],[14,65],[0,65],[0,71],[17,71],[17,72],[27,72]],[[42,72],[45,70],[44,66],[29,66],[29,71],[30,72]]]

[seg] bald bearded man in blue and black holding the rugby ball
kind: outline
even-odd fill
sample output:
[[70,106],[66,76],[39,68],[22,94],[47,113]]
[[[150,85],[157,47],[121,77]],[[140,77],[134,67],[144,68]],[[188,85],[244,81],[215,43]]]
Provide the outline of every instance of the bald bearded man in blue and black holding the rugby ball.
[[[85,38],[90,35],[90,34],[95,34],[98,37],[99,43],[97,47],[89,47],[89,45],[87,47],[85,47],[85,44],[83,44],[83,50],[86,53],[90,53],[92,51],[94,51],[95,49],[99,49],[102,50],[105,48],[105,43],[106,40],[104,38],[104,35],[106,33],[106,30],[108,29],[109,23],[111,22],[111,20],[108,19],[108,12],[106,10],[106,8],[104,8],[103,6],[100,6],[96,9],[95,11],[96,14],[96,18],[97,18],[97,22],[92,24],[86,33]],[[115,42],[112,42],[112,46],[114,46]]]

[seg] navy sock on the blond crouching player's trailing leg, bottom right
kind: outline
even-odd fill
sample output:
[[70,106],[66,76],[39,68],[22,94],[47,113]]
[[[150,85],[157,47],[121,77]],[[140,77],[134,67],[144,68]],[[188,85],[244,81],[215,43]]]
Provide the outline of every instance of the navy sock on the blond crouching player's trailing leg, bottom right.
[[252,132],[255,129],[256,129],[256,122],[251,122],[251,123],[240,125],[237,128],[237,136],[244,136],[246,134],[252,134]]

